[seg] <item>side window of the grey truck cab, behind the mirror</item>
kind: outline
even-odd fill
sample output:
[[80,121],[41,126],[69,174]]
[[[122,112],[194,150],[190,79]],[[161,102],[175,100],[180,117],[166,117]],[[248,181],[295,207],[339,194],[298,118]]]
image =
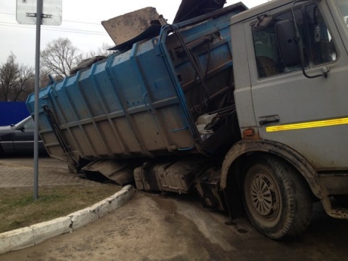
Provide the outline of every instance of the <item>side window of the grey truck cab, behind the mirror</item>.
[[[318,6],[316,4],[301,6],[296,8],[294,14],[302,40],[306,68],[335,61],[337,52]],[[274,16],[272,22],[262,30],[255,30],[253,27],[253,44],[259,79],[301,69],[301,64],[286,67],[282,62],[275,24],[284,19],[292,19],[291,12]]]

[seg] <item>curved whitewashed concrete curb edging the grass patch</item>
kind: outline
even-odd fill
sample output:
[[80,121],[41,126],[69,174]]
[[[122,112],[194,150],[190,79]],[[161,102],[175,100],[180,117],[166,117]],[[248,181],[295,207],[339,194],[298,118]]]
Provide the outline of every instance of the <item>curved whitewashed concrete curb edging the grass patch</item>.
[[86,226],[121,207],[134,193],[134,187],[127,185],[111,197],[93,204],[91,207],[62,216],[51,221],[42,222],[25,228],[0,233],[0,255],[22,248],[29,248],[49,238],[64,233],[71,233],[76,228]]

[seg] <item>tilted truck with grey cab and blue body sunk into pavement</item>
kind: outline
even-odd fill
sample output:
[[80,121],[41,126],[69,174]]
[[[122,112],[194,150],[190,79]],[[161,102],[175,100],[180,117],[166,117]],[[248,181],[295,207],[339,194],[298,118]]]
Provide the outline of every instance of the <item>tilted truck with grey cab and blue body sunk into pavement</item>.
[[47,152],[137,190],[197,192],[272,239],[303,233],[314,202],[347,219],[348,2],[223,5],[159,16],[52,79],[35,119]]

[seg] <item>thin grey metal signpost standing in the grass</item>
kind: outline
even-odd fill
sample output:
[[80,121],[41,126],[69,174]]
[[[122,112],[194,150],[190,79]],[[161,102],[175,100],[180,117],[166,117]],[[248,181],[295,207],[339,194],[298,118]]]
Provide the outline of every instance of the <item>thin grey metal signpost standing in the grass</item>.
[[35,103],[34,103],[34,199],[39,198],[39,89],[40,89],[40,34],[42,0],[37,0],[35,46]]

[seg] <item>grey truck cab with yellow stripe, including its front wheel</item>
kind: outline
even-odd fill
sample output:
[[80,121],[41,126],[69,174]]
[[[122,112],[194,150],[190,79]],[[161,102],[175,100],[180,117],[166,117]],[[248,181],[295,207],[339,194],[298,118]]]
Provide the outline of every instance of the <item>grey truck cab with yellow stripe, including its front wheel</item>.
[[[279,0],[231,18],[243,139],[225,158],[221,185],[228,187],[231,169],[243,173],[248,215],[271,238],[282,234],[277,228],[286,221],[278,214],[291,204],[288,196],[303,193],[296,201],[306,202],[313,194],[327,214],[347,218],[347,209],[332,207],[330,200],[347,204],[347,16],[343,0]],[[280,175],[268,175],[272,172]],[[291,175],[294,195],[282,195]],[[301,216],[298,228],[310,216],[311,204],[305,205],[293,213]]]

